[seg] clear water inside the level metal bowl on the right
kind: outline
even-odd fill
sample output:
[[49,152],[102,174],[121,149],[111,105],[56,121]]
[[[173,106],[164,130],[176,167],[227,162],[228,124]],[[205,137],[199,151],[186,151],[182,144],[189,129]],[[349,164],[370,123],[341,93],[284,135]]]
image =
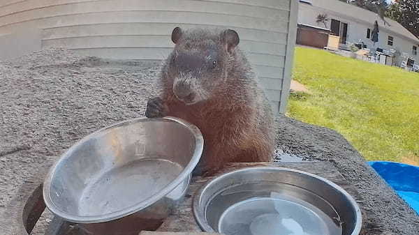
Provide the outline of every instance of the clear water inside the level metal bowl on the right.
[[221,212],[216,225],[218,232],[226,235],[342,234],[339,215],[324,199],[316,200],[323,201],[319,204],[321,210],[293,196],[312,192],[303,192],[304,189],[294,185],[275,185],[278,183],[240,185],[216,195],[208,209],[221,202],[235,202]]

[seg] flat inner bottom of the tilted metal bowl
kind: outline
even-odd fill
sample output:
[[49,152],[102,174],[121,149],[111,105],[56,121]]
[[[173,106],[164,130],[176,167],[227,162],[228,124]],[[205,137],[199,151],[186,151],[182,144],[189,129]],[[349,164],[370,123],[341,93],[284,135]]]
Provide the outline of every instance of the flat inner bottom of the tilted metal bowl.
[[159,158],[143,158],[113,167],[91,179],[82,192],[79,214],[104,215],[152,197],[176,179],[183,167]]

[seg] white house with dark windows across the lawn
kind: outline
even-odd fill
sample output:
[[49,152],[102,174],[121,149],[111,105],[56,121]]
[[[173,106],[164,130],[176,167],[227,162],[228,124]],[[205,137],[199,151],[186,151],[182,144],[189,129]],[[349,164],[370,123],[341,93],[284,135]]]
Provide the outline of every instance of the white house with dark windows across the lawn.
[[[325,22],[330,33],[340,36],[339,47],[348,49],[350,43],[365,43],[367,48],[375,50],[394,49],[406,53],[419,62],[419,39],[401,24],[385,18],[390,24],[384,24],[376,13],[337,0],[300,0],[298,23],[325,27],[323,22],[316,22],[317,16],[326,14]],[[378,42],[372,42],[374,22],[378,22]],[[398,61],[397,63],[400,63]]]

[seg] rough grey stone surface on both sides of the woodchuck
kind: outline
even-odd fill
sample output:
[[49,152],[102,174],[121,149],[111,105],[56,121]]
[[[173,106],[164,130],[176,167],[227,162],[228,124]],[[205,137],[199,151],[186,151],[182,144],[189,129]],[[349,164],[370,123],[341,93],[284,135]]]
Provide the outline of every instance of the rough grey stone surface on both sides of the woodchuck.
[[[31,176],[81,137],[144,116],[156,96],[158,63],[110,61],[66,50],[0,62],[0,214]],[[419,217],[337,132],[279,116],[277,153],[331,161],[363,197],[367,234],[419,234]],[[287,158],[288,159],[288,158]],[[43,234],[45,211],[32,234]]]

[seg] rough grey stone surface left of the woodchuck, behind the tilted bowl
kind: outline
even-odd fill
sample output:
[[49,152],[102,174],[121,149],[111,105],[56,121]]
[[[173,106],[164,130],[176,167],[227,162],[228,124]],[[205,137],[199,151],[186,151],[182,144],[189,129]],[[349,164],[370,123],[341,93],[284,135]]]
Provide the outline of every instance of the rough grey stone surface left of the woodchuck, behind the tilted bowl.
[[78,139],[143,116],[147,98],[159,91],[158,74],[158,64],[66,50],[0,63],[0,214],[24,181]]

